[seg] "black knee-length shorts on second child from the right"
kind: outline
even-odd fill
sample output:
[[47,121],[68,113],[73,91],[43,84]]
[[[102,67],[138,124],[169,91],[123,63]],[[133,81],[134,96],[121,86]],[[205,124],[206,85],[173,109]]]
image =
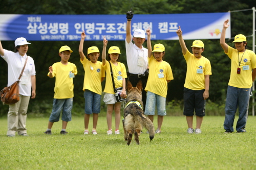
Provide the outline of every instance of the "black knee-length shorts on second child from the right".
[[193,116],[194,110],[199,117],[205,116],[205,100],[203,90],[190,90],[184,87],[184,110],[185,116]]

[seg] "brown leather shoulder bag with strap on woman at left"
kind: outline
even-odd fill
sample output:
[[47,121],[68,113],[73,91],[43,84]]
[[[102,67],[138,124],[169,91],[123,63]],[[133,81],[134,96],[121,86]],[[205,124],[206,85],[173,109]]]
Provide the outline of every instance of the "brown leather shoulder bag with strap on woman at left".
[[19,83],[19,79],[22,77],[27,61],[28,61],[28,57],[26,58],[26,62],[22,69],[22,73],[19,75],[18,81],[14,82],[12,85],[5,87],[3,88],[3,90],[1,90],[0,95],[1,95],[1,101],[3,102],[3,105],[5,104],[13,105],[19,101],[18,83]]

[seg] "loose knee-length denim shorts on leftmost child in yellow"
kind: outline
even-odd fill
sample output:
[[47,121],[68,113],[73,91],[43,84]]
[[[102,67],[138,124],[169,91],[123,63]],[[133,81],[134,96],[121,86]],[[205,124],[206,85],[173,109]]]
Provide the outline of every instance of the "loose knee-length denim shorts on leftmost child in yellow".
[[62,110],[61,120],[70,122],[72,107],[73,107],[73,98],[53,99],[52,113],[50,115],[49,122],[58,122],[61,110]]

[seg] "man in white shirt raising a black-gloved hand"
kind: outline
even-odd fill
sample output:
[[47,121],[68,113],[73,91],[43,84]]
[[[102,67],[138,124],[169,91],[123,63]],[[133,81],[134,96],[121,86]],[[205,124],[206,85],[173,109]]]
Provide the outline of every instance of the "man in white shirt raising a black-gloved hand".
[[[132,83],[133,87],[136,87],[137,83],[142,81],[142,102],[143,110],[145,110],[146,105],[146,87],[147,77],[148,77],[148,61],[147,61],[147,49],[143,47],[145,41],[145,31],[135,30],[133,37],[131,34],[131,22],[133,18],[133,11],[128,11],[126,13],[127,23],[126,23],[126,60],[129,70],[128,80]],[[134,41],[134,44],[132,42]]]

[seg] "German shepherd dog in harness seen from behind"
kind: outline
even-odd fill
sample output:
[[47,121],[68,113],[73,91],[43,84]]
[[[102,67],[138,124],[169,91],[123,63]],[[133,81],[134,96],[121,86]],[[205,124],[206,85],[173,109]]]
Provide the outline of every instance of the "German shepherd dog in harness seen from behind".
[[155,128],[151,120],[143,113],[142,103],[142,82],[139,81],[136,87],[128,80],[126,84],[127,100],[123,110],[123,130],[124,140],[127,145],[131,144],[133,133],[137,144],[140,144],[139,135],[142,126],[145,127],[150,134],[150,141],[155,136]]

